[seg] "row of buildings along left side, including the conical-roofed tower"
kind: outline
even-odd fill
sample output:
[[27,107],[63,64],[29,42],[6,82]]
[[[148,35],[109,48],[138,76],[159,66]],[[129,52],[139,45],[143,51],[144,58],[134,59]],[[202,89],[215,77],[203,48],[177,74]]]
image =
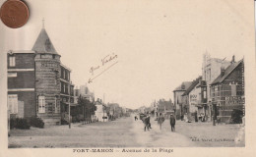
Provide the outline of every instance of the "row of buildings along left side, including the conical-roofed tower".
[[[102,109],[104,104],[95,101],[95,93],[87,85],[74,89],[70,77],[72,71],[61,63],[61,55],[54,48],[44,27],[32,50],[8,51],[7,64],[10,118],[35,116],[46,125],[60,125],[69,121],[70,111],[78,109],[78,98],[82,96],[97,107],[96,113],[85,111],[83,114],[89,119],[104,119],[105,116],[100,115],[102,111],[105,112]],[[115,112],[119,113],[116,111],[119,109],[117,106]]]

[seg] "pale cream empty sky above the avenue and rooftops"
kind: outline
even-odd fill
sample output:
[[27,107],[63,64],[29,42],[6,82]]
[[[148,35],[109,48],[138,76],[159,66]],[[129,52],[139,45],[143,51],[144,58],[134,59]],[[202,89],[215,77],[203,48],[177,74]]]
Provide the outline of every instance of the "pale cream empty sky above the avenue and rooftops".
[[[61,62],[72,70],[73,83],[84,85],[118,62],[88,86],[105,102],[133,109],[155,99],[173,99],[172,91],[182,81],[202,75],[205,52],[215,58],[241,59],[252,25],[244,4],[232,0],[26,2],[31,11],[26,26],[12,29],[0,24],[1,53],[31,50],[44,19]],[[117,58],[92,76],[90,69],[107,55]]]

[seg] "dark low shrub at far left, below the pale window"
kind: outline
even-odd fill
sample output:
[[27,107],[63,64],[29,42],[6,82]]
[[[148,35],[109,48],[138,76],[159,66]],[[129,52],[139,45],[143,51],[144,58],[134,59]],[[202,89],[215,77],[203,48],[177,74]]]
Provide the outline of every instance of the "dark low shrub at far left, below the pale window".
[[31,125],[24,118],[15,118],[10,120],[10,129],[21,129],[21,130],[30,130]]

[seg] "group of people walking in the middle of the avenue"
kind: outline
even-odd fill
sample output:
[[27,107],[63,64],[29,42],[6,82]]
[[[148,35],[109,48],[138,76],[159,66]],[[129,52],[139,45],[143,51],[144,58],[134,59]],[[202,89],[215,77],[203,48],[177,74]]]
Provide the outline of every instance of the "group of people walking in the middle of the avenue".
[[[135,116],[134,119],[135,121],[137,121],[138,120],[137,116]],[[144,131],[150,131],[150,129],[152,129],[150,119],[151,119],[150,115],[147,115],[142,118],[142,121],[144,124]],[[160,116],[158,117],[158,125],[160,126],[160,131],[162,131],[162,124],[164,120],[165,120],[164,117],[160,113]],[[176,123],[175,117],[172,114],[170,114],[169,124],[171,127],[171,131],[175,131],[175,123]]]

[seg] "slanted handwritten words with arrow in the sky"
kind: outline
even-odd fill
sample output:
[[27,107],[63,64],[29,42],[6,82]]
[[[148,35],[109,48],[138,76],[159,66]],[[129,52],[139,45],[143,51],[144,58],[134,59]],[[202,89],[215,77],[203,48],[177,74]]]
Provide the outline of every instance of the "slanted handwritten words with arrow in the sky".
[[[98,64],[97,66],[93,66],[90,68],[90,74],[91,74],[91,78],[89,78],[88,83],[93,82],[93,80],[97,77],[99,77],[101,74],[103,74],[104,72],[106,72],[108,69],[110,69],[112,66],[114,66],[115,64],[118,63],[117,61],[118,56],[114,53],[106,55],[105,57],[103,57],[100,60],[100,64]],[[95,76],[95,73],[99,72],[99,74],[97,74]]]

